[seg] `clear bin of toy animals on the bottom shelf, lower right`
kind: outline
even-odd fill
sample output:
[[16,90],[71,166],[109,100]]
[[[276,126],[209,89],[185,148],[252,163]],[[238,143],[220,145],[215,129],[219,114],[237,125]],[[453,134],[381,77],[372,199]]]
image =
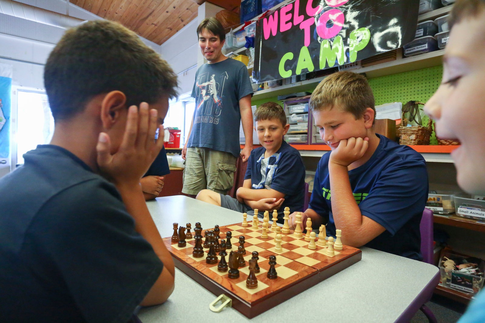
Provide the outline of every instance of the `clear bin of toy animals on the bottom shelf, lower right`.
[[[446,258],[445,258],[446,257]],[[451,266],[456,269],[445,268],[443,261],[451,262]],[[475,263],[478,265],[478,271],[482,274],[471,274],[460,271],[460,267],[468,267],[466,263]],[[456,267],[460,266],[460,267]],[[465,255],[457,255],[452,252],[445,252],[443,257],[439,260],[439,272],[441,275],[441,285],[446,288],[465,292],[467,294],[476,294],[484,285],[484,261],[474,257]]]

